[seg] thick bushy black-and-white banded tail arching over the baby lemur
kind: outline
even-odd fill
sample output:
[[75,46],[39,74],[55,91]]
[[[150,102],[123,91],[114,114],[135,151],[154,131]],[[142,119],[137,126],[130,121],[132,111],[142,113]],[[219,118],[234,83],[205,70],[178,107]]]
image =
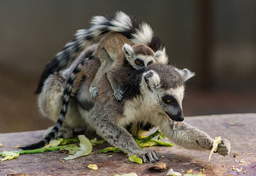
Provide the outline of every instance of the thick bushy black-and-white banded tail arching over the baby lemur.
[[[154,52],[161,50],[165,53],[165,43],[152,31],[147,23],[140,19],[134,16],[128,16],[123,12],[117,12],[109,17],[94,16],[91,19],[90,27],[88,29],[78,30],[76,38],[67,43],[64,49],[57,53],[56,57],[45,67],[35,93],[41,92],[44,81],[49,75],[54,72],[60,72],[60,70],[67,67],[73,62],[78,53],[92,43],[99,41],[108,32],[122,33],[133,44],[143,43],[152,48]],[[163,55],[161,59],[159,58],[157,60],[167,63],[168,57]]]

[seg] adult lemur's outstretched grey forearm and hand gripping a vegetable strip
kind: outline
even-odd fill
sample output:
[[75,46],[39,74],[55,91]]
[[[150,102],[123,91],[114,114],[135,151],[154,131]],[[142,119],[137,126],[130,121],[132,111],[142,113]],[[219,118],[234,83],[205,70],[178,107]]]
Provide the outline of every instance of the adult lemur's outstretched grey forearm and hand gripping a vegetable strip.
[[[163,117],[159,127],[169,140],[182,147],[192,150],[211,150],[212,148],[214,140],[208,134],[183,121],[177,122],[168,119],[168,117]],[[225,139],[221,140],[221,144],[218,145],[217,153],[225,156],[228,155],[229,152],[229,141]]]

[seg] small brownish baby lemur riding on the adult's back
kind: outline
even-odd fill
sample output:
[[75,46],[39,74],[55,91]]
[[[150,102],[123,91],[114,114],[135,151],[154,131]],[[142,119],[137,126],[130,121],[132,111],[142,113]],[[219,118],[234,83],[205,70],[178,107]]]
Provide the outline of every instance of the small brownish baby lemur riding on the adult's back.
[[157,58],[163,55],[160,50],[153,52],[145,44],[130,45],[133,44],[126,36],[116,32],[109,33],[100,40],[95,56],[100,59],[101,66],[89,89],[93,99],[98,94],[97,85],[99,80],[107,73],[107,79],[109,79],[110,85],[114,90],[114,97],[117,100],[121,100],[123,90],[120,89],[119,84],[116,82],[115,70],[129,62],[134,69],[143,72],[145,67],[156,63]]

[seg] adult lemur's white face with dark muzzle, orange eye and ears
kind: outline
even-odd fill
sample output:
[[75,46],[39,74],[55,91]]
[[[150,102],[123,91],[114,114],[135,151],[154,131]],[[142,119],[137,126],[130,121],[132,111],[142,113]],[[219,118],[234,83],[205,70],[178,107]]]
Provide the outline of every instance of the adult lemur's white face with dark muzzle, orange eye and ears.
[[144,73],[140,92],[150,107],[155,107],[159,113],[168,115],[174,121],[183,121],[184,82],[194,73],[187,69],[174,72],[176,71],[173,70],[173,75],[162,75],[161,79],[153,70]]

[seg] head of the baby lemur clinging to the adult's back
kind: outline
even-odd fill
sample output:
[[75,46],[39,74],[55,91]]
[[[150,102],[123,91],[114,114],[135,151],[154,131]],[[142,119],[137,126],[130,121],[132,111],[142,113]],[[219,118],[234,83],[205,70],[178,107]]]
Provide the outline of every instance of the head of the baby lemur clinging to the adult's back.
[[153,52],[149,46],[144,44],[136,44],[133,46],[124,44],[123,50],[126,60],[136,70],[145,70],[145,68],[152,65],[152,63],[156,63],[157,57],[163,55],[160,51]]

